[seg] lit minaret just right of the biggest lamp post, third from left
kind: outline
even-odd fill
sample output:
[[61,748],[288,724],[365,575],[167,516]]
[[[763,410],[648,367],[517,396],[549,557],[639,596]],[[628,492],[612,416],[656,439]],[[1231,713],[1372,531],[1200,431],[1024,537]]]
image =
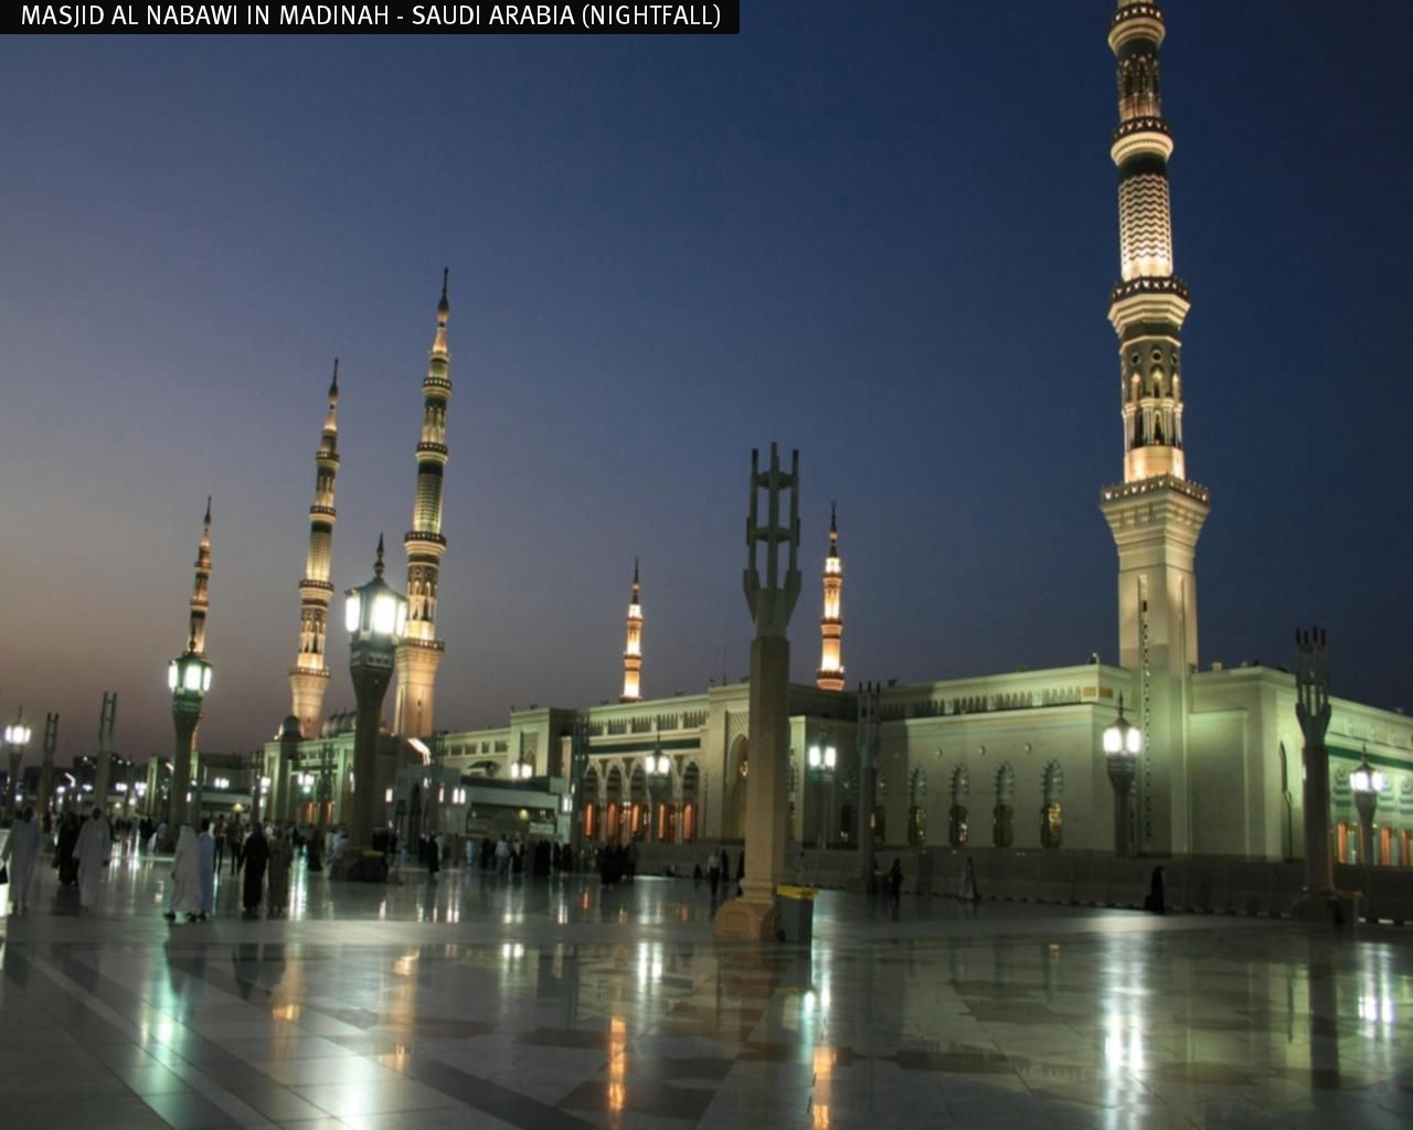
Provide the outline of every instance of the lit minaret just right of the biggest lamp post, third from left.
[[427,737],[432,732],[432,692],[437,668],[447,644],[437,638],[437,575],[447,538],[441,533],[441,487],[447,470],[447,401],[451,379],[447,369],[447,280],[437,304],[437,336],[422,379],[422,438],[417,445],[417,499],[413,528],[403,538],[407,547],[407,634],[397,647],[397,701],[393,730],[403,737]]

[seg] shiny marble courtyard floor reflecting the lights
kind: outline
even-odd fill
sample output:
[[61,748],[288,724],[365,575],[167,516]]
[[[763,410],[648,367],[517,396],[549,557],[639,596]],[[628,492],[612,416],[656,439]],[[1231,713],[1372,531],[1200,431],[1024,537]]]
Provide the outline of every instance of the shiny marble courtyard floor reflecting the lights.
[[705,884],[297,870],[288,921],[160,917],[114,862],[0,920],[10,1127],[1395,1127],[1413,931],[824,893],[810,949]]

